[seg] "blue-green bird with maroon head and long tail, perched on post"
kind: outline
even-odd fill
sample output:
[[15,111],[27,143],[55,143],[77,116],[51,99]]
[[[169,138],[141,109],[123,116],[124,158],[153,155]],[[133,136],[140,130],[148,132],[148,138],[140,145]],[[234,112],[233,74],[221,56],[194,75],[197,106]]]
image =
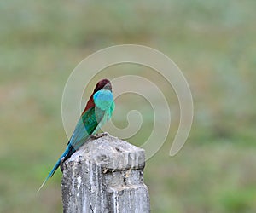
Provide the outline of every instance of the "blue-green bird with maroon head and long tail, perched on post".
[[96,134],[96,131],[100,130],[103,124],[108,122],[112,117],[114,108],[112,85],[107,78],[104,78],[96,83],[96,87],[90,95],[90,99],[87,101],[84,111],[73,130],[73,135],[67,142],[66,150],[61,154],[61,157],[49,172],[49,175],[45,178],[41,187],[39,187],[38,192],[44,187],[46,181],[54,176],[55,170],[57,170],[64,161],[70,158],[84,142]]

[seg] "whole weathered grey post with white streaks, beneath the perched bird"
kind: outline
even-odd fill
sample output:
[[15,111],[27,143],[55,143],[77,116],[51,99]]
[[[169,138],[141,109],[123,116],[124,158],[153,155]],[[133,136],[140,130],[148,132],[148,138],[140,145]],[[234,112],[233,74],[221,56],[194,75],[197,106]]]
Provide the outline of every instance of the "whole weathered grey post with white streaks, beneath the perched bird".
[[63,212],[150,212],[144,166],[142,148],[108,134],[90,139],[62,166]]

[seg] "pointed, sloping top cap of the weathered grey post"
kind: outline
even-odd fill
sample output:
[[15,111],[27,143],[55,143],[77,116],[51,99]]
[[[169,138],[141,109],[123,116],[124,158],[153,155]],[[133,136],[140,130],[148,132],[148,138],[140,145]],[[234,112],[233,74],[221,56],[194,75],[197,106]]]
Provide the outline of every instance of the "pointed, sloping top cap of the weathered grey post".
[[142,148],[103,133],[102,137],[90,138],[86,141],[71,158],[67,159],[64,168],[68,162],[82,161],[99,165],[106,172],[108,170],[136,170],[145,166],[145,152]]

